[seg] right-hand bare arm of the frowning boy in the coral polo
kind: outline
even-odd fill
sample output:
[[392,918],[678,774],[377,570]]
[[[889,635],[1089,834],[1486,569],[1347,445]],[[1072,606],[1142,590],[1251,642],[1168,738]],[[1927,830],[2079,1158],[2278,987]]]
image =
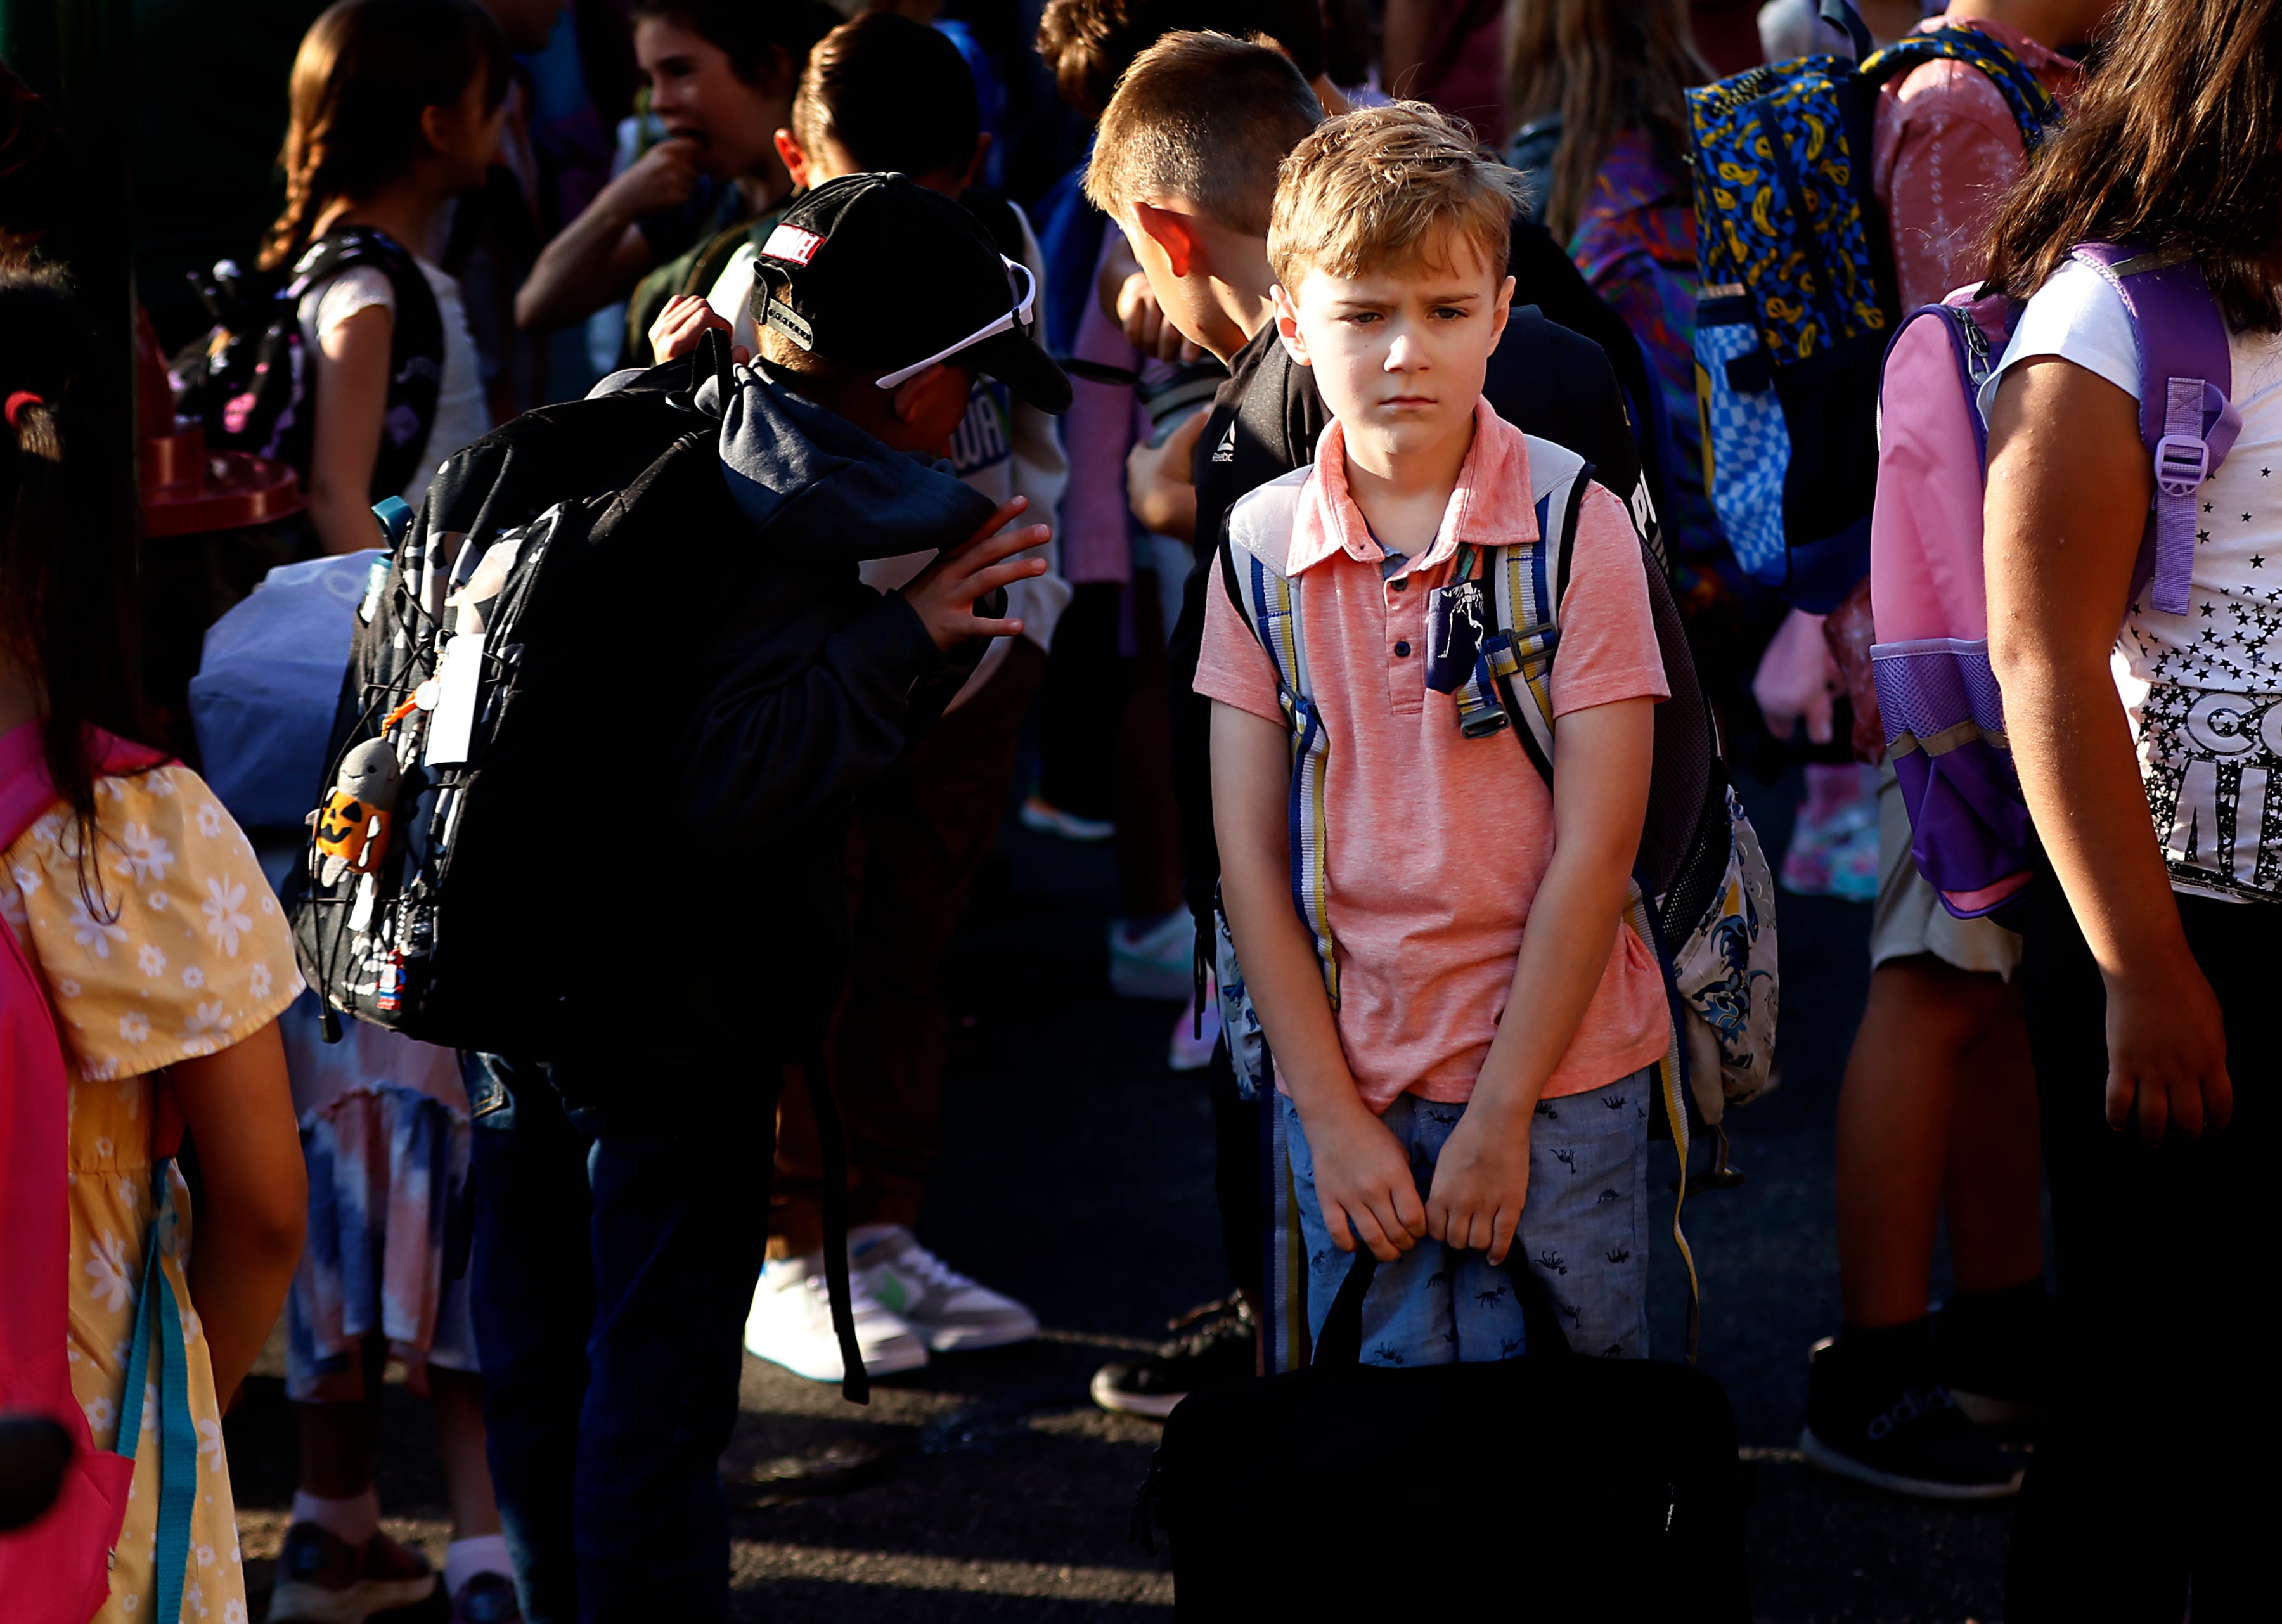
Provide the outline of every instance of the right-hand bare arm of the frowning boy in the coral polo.
[[[1435,1163],[1426,1234],[1504,1264],[1529,1195],[1529,1118],[1609,972],[1648,817],[1657,703],[1616,700],[1554,723],[1554,860],[1529,906],[1506,1015],[1474,1099]],[[1248,969],[1248,965],[1246,965]]]

